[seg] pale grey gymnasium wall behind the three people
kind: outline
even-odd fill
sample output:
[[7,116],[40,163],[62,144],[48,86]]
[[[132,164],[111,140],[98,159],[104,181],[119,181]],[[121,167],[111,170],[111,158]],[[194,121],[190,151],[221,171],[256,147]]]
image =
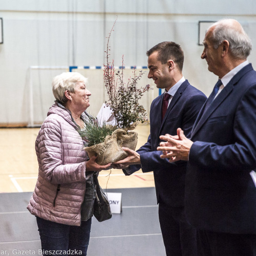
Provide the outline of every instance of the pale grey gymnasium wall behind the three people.
[[[110,39],[115,66],[121,65],[122,55],[125,66],[146,66],[146,50],[160,41],[176,41],[185,54],[185,78],[208,96],[218,78],[208,72],[206,61],[200,58],[203,46],[198,46],[198,22],[224,17],[235,18],[243,25],[253,44],[249,61],[255,64],[254,0],[0,0],[4,23],[4,44],[0,45],[0,125],[29,124],[31,84],[32,116],[40,124],[54,101],[52,78],[68,71],[30,70],[31,66],[103,66],[106,36],[116,16]],[[90,80],[93,95],[88,110],[95,115],[106,100],[102,71],[82,72]],[[141,85],[151,83],[154,88],[146,76]],[[154,89],[145,96],[143,105],[147,110],[157,95],[158,90]]]

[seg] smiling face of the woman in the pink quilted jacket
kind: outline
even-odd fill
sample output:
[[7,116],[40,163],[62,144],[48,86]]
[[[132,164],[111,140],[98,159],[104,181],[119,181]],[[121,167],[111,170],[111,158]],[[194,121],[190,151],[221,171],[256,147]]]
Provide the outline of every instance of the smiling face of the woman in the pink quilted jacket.
[[77,109],[84,111],[90,106],[89,96],[91,96],[91,93],[83,82],[77,82],[75,92],[70,94]]

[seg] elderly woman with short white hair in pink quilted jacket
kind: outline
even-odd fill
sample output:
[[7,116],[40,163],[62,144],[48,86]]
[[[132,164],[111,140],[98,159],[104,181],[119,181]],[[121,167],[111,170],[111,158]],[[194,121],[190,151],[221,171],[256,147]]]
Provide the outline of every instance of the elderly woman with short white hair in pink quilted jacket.
[[36,138],[39,173],[27,208],[36,216],[43,254],[87,254],[96,193],[93,173],[110,166],[88,159],[77,132],[92,121],[86,112],[87,85],[87,78],[76,72],[53,79],[56,101]]

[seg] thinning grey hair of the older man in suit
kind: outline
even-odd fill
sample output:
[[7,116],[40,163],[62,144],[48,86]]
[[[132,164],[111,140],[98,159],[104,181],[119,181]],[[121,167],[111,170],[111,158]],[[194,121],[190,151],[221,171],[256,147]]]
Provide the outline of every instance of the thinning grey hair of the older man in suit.
[[233,19],[221,19],[219,22],[211,25],[211,27],[214,27],[211,40],[215,49],[217,49],[224,40],[227,40],[233,57],[246,59],[250,55],[251,40],[242,26],[239,24],[240,29],[238,29],[234,26],[234,22],[239,24]]

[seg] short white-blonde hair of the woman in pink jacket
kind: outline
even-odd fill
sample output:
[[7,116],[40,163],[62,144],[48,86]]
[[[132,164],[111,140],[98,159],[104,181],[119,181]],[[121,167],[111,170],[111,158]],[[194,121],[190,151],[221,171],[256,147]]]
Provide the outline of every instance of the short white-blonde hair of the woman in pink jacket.
[[65,96],[65,91],[74,93],[77,82],[83,82],[86,87],[88,86],[88,78],[78,72],[64,72],[55,76],[52,81],[52,92],[55,99],[60,103],[66,103],[68,99]]

